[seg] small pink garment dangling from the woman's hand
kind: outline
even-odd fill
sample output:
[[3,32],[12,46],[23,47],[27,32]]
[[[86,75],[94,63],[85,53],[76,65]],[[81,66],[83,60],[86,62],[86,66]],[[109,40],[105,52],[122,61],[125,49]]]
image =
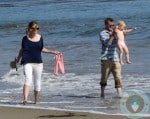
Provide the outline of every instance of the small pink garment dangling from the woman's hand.
[[58,76],[58,71],[60,70],[60,72],[62,74],[65,73],[65,69],[64,69],[64,58],[62,53],[58,53],[55,55],[55,62],[54,62],[54,75]]

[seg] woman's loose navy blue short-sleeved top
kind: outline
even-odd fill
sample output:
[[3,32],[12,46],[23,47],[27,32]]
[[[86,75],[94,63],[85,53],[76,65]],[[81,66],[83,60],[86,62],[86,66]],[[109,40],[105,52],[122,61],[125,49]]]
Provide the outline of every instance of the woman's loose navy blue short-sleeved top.
[[21,64],[42,63],[41,52],[43,49],[43,38],[41,36],[38,42],[32,42],[27,36],[22,39],[22,60]]

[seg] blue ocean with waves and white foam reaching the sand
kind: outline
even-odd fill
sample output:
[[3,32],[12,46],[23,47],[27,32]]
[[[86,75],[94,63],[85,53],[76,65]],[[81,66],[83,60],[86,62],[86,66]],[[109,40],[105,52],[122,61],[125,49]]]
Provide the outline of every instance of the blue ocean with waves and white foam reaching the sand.
[[9,63],[17,56],[31,20],[39,23],[45,47],[63,53],[66,73],[54,76],[54,56],[42,54],[40,103],[33,104],[31,88],[28,107],[122,114],[112,75],[106,98],[100,98],[99,32],[106,17],[137,28],[126,36],[132,64],[122,66],[123,92],[142,90],[150,97],[149,5],[149,0],[1,0],[0,105],[24,107],[22,66],[18,64],[15,71]]

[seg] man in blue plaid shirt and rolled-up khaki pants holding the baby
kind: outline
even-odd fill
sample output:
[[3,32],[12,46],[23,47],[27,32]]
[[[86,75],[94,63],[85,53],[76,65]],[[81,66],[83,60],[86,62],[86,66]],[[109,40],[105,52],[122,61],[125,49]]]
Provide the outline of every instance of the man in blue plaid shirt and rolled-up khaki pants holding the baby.
[[115,88],[117,89],[118,97],[121,98],[121,64],[119,62],[119,54],[117,52],[117,40],[110,38],[113,36],[114,20],[106,18],[104,20],[105,29],[100,32],[100,41],[102,43],[101,52],[101,97],[105,97],[105,87],[107,86],[107,79],[112,73],[115,81]]

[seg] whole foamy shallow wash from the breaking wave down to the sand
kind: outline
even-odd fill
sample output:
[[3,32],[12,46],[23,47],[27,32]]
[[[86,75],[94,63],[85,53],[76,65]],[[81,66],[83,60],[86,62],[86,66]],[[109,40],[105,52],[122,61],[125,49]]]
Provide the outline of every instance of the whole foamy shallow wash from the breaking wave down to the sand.
[[[18,71],[6,73],[1,82],[7,82],[7,88],[1,90],[1,105],[21,105],[23,73],[22,68]],[[146,93],[149,89],[149,76],[124,75],[123,90],[142,89]],[[100,98],[99,74],[76,75],[75,73],[66,73],[64,75],[54,76],[52,73],[43,72],[42,91],[39,108],[58,108],[66,110],[88,111],[95,113],[121,114],[120,100],[115,98],[113,77],[110,76],[106,88],[106,98]],[[138,80],[138,82],[137,82]],[[146,82],[146,83],[145,83]],[[9,88],[9,85],[18,85],[18,87]],[[29,97],[29,105],[33,105],[33,92]],[[149,94],[148,94],[149,95]],[[29,106],[30,107],[30,106]]]

